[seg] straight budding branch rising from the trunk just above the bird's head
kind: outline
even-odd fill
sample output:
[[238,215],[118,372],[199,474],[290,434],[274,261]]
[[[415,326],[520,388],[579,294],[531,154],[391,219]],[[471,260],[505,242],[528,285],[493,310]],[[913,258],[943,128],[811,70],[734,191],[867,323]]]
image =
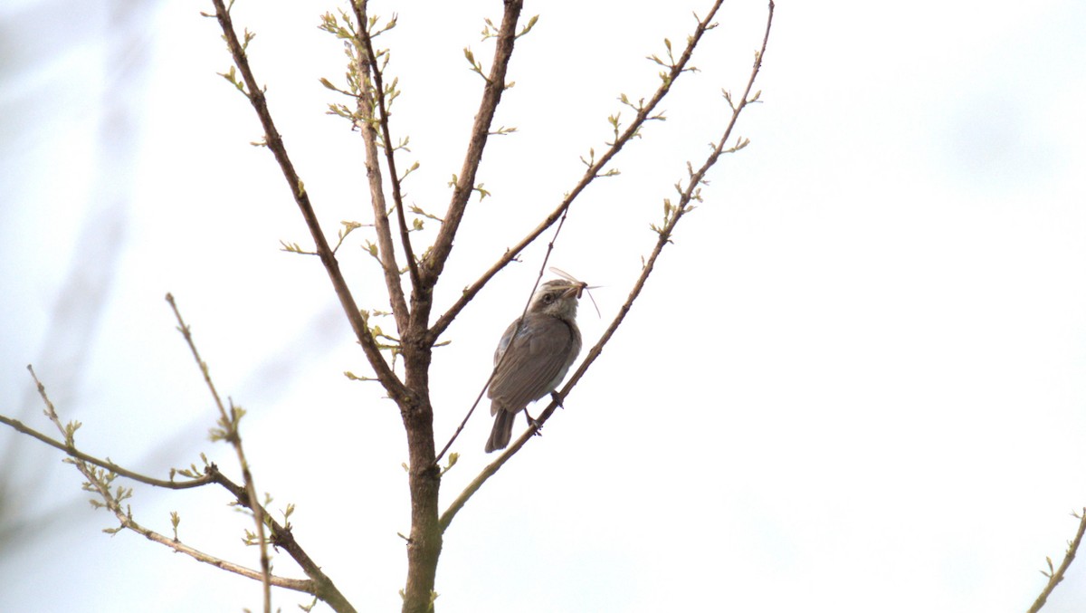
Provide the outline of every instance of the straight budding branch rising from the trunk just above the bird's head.
[[497,262],[495,262],[485,273],[483,273],[481,277],[479,277],[473,284],[464,289],[464,292],[456,300],[456,302],[454,302],[453,305],[450,306],[449,310],[445,311],[430,327],[429,331],[427,333],[427,341],[429,343],[433,343],[437,341],[438,337],[440,337],[442,333],[445,331],[445,328],[447,328],[453,323],[453,320],[456,318],[456,315],[458,315],[459,312],[463,311],[465,306],[467,306],[468,302],[475,299],[476,295],[479,293],[479,291],[483,288],[483,286],[485,286],[494,275],[496,275],[500,271],[502,271],[502,268],[508,265],[509,262],[516,259],[517,255],[519,255],[520,252],[523,251],[529,245],[534,242],[535,239],[539,238],[540,235],[542,235],[546,230],[546,228],[554,225],[555,222],[557,222],[561,217],[561,214],[567,209],[569,209],[570,205],[572,205],[577,197],[580,196],[581,192],[584,191],[584,189],[593,180],[595,180],[598,176],[601,176],[601,174],[604,172],[604,168],[619,153],[619,151],[621,151],[622,148],[630,140],[632,140],[634,136],[640,134],[641,128],[643,127],[645,122],[647,122],[651,117],[654,116],[653,111],[655,111],[656,107],[660,103],[660,101],[664,100],[664,98],[671,90],[671,86],[674,85],[674,82],[679,79],[679,77],[681,77],[683,73],[687,72],[686,64],[690,63],[690,59],[693,55],[694,49],[695,47],[697,47],[698,41],[700,41],[702,36],[712,25],[712,18],[716,16],[717,11],[720,9],[721,4],[723,4],[723,0],[716,0],[716,2],[714,2],[712,4],[712,8],[709,9],[709,12],[705,16],[705,18],[698,22],[697,26],[694,28],[694,34],[692,34],[687,38],[686,48],[683,50],[682,55],[679,57],[679,61],[675,62],[675,64],[671,67],[670,73],[668,73],[668,77],[661,79],[659,88],[657,88],[656,92],[648,100],[648,102],[646,102],[641,108],[641,110],[634,116],[629,127],[627,127],[627,129],[621,135],[619,135],[618,138],[615,139],[615,142],[613,142],[610,147],[607,148],[607,151],[605,151],[604,154],[598,160],[595,161],[595,163],[589,166],[589,168],[584,172],[584,175],[581,176],[581,179],[577,183],[576,186],[573,186],[573,189],[571,189],[566,195],[566,197],[558,204],[558,207],[554,211],[552,211],[551,214],[548,214],[546,218],[544,218],[535,227],[535,229],[531,230],[525,238],[520,240],[520,242],[507,249],[505,253],[503,253],[502,257],[498,258]]

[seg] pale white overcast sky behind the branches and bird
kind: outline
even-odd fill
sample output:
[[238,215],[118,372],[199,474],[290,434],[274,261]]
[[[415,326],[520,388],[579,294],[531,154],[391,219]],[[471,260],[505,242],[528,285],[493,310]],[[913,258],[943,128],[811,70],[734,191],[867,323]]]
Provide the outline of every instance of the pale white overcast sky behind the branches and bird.
[[[442,214],[481,79],[467,70],[500,2],[395,7],[382,37],[403,95],[393,132],[408,201]],[[75,5],[75,4],[73,4]],[[529,3],[440,312],[534,227],[604,149],[620,92],[649,96],[662,38],[709,2]],[[334,5],[328,5],[329,9]],[[359,610],[397,610],[406,447],[260,128],[217,71],[210,3],[143,14],[119,45],[105,12],[8,3],[0,84],[0,410],[48,424],[33,362],[88,452],[144,473],[198,462],[214,413],[163,295],[193,327],[273,508]],[[324,114],[342,80],[317,3],[250,2],[238,27],[325,229],[368,222],[361,139]],[[129,8],[117,9],[127,15]],[[393,8],[378,2],[388,16]],[[741,89],[765,3],[733,0],[622,175],[578,201],[552,263],[593,284],[586,345],[622,303],[661,199],[700,163]],[[786,2],[706,201],[567,409],[460,512],[438,601],[484,611],[1024,611],[1086,505],[1086,8],[1076,2]],[[114,40],[114,48],[108,41]],[[127,40],[127,39],[122,39]],[[112,49],[112,50],[111,50]],[[106,101],[134,123],[108,122]],[[624,113],[629,116],[630,113]],[[416,240],[431,236],[413,235]],[[551,236],[551,233],[545,235]],[[361,304],[383,308],[352,235]],[[522,308],[543,243],[480,295],[435,354],[440,442]],[[393,329],[391,322],[387,329]],[[518,423],[519,427],[519,423]],[[454,450],[451,500],[484,465],[485,406]],[[240,611],[258,586],[114,525],[61,455],[0,431],[0,611]],[[136,486],[138,521],[255,566],[247,518],[216,490]],[[17,535],[13,538],[12,535]],[[276,570],[300,576],[286,554]],[[1081,562],[1046,611],[1086,602]],[[307,602],[275,592],[285,611]],[[327,609],[325,609],[327,610]]]

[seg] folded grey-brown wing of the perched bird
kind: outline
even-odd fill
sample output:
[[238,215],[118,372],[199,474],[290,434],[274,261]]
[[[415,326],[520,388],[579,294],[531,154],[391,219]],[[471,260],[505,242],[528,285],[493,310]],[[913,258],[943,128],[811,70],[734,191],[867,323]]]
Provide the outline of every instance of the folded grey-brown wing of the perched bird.
[[[512,328],[506,330],[510,335]],[[573,343],[569,324],[550,315],[529,313],[520,331],[508,341],[505,361],[490,384],[487,396],[494,400],[491,413],[498,405],[506,411],[520,411],[553,391],[558,383],[555,379],[566,374],[576,358]]]

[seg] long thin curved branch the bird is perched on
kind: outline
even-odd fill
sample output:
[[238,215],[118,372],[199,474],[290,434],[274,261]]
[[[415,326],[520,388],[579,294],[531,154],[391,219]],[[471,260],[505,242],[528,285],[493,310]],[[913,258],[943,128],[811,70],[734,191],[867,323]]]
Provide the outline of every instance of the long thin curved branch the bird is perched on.
[[711,168],[717,163],[717,161],[720,159],[720,155],[729,151],[727,143],[731,139],[732,129],[735,127],[735,122],[738,120],[738,116],[742,113],[743,109],[745,109],[746,105],[750,102],[749,100],[750,90],[754,88],[754,82],[758,77],[758,73],[761,70],[761,61],[766,54],[766,47],[769,45],[769,33],[773,25],[773,10],[774,10],[774,4],[772,0],[770,0],[769,15],[766,21],[766,33],[765,36],[762,37],[761,49],[755,54],[754,68],[750,71],[750,78],[747,80],[746,88],[744,89],[743,92],[742,101],[738,104],[732,105],[731,120],[728,122],[728,125],[724,128],[723,135],[720,137],[720,140],[718,140],[717,143],[714,146],[712,152],[706,158],[705,163],[696,172],[691,173],[686,187],[683,190],[682,195],[680,196],[679,204],[675,205],[674,212],[671,218],[668,221],[668,223],[662,228],[660,228],[659,236],[656,241],[656,247],[653,249],[653,252],[649,255],[649,258],[645,261],[645,265],[642,267],[641,276],[637,277],[636,283],[634,283],[633,288],[630,290],[629,297],[627,297],[626,302],[619,309],[619,312],[615,316],[615,320],[611,321],[610,325],[604,331],[603,336],[599,338],[596,345],[593,346],[592,349],[589,351],[589,354],[585,356],[584,361],[581,362],[581,365],[577,368],[576,372],[573,372],[573,374],[566,381],[566,385],[561,388],[560,391],[557,392],[557,397],[554,400],[552,400],[550,404],[547,404],[546,409],[535,418],[534,423],[527,430],[525,430],[525,433],[520,435],[520,437],[517,438],[516,441],[509,445],[509,447],[497,459],[488,464],[479,473],[479,475],[477,475],[476,478],[472,479],[471,483],[464,488],[464,490],[456,497],[456,499],[453,500],[452,503],[450,503],[449,508],[441,515],[440,522],[442,530],[449,528],[449,525],[456,516],[456,513],[458,513],[459,510],[464,508],[464,504],[467,503],[468,499],[470,499],[471,496],[475,495],[475,492],[478,491],[480,487],[482,487],[482,485],[487,481],[487,479],[489,479],[492,475],[494,475],[494,473],[496,473],[498,468],[502,467],[502,465],[504,465],[515,453],[517,453],[517,451],[519,451],[520,448],[522,448],[525,443],[528,442],[528,440],[532,438],[532,436],[535,435],[536,431],[539,431],[539,428],[543,426],[543,424],[551,417],[551,415],[554,414],[555,410],[560,405],[560,402],[569,395],[569,392],[573,389],[573,387],[581,379],[581,377],[584,376],[584,373],[588,371],[589,366],[591,366],[592,363],[595,362],[596,358],[598,358],[599,354],[603,352],[604,346],[615,335],[615,331],[618,329],[619,325],[621,325],[622,321],[626,318],[626,315],[630,312],[630,309],[633,306],[634,300],[637,299],[637,297],[641,295],[641,291],[644,289],[645,282],[648,280],[648,276],[653,272],[653,267],[656,264],[657,258],[659,258],[660,253],[664,251],[664,248],[667,246],[667,243],[670,242],[670,236],[671,233],[674,230],[675,224],[679,223],[679,220],[682,218],[684,213],[690,211],[690,202],[695,198],[698,186],[700,186],[702,183],[704,182],[705,175],[708,173],[709,168]]

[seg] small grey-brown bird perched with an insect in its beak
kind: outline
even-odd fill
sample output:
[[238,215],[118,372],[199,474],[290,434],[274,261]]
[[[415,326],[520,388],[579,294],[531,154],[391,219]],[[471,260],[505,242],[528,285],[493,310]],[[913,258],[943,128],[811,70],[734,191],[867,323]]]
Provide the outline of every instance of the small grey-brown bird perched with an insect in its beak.
[[[487,453],[505,449],[517,413],[557,389],[581,352],[577,300],[586,284],[552,279],[532,296],[528,312],[505,328],[494,350],[494,377],[487,391],[494,427]],[[532,422],[528,416],[529,423]]]

